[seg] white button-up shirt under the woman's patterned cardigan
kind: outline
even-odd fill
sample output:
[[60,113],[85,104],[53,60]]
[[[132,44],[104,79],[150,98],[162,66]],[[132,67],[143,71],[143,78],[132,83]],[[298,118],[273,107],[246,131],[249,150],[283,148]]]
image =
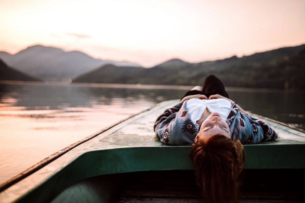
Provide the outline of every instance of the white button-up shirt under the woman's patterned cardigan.
[[227,119],[232,104],[226,99],[211,99],[211,100],[200,100],[200,99],[190,99],[186,103],[186,108],[188,110],[188,115],[190,116],[192,122],[197,128],[199,125],[196,123],[198,121],[203,111],[208,108],[208,110],[213,113],[217,112],[225,120]]

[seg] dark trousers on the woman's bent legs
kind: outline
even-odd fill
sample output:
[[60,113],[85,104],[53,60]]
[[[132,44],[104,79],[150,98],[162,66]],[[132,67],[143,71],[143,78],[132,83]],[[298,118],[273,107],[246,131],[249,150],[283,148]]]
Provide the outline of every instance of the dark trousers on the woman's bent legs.
[[[185,93],[185,96],[195,95],[195,94],[204,94],[209,98],[213,94],[219,94],[221,96],[229,98],[228,93],[224,90],[224,84],[218,79],[215,75],[209,75],[206,77],[203,83],[202,91],[199,90],[190,90]],[[183,99],[181,98],[181,100]]]

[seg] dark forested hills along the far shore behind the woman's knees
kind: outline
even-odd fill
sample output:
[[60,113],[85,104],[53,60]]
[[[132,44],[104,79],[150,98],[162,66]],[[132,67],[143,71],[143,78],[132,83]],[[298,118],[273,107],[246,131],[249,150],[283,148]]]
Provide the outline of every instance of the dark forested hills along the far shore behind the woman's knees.
[[105,65],[73,82],[199,85],[209,74],[231,87],[305,89],[305,44],[201,63],[173,59],[152,68]]

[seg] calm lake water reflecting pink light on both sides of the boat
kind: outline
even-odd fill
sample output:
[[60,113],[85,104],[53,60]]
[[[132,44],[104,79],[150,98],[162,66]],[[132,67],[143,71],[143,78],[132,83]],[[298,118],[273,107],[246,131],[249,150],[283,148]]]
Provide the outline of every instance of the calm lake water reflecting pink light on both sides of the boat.
[[[181,98],[189,87],[166,88],[0,84],[0,182],[132,114]],[[227,91],[245,110],[305,129],[304,92]]]

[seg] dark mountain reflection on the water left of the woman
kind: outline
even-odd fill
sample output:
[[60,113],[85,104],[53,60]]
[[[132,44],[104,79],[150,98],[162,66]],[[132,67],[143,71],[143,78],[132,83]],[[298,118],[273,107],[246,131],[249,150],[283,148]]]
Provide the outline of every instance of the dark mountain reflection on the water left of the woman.
[[[10,91],[8,90],[8,86]],[[121,98],[125,103],[137,101],[161,102],[177,99],[185,90],[126,89],[80,86],[0,85],[1,103],[27,110],[92,107],[94,104],[113,105]],[[113,100],[116,99],[116,100]]]

